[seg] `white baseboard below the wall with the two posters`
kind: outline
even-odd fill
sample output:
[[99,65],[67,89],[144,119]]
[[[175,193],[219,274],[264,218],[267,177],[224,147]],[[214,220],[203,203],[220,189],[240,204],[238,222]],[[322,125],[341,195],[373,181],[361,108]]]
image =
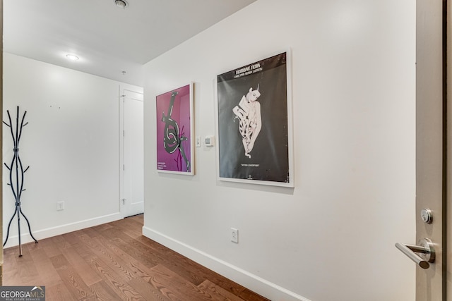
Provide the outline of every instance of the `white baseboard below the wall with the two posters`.
[[267,297],[270,300],[310,301],[305,297],[297,295],[290,290],[286,290],[285,288],[276,285],[275,283],[266,281],[259,276],[244,271],[238,266],[229,264],[221,259],[213,257],[210,254],[207,254],[206,252],[186,245],[184,242],[174,240],[173,238],[170,238],[165,234],[154,231],[153,229],[143,226],[143,235],[145,235],[145,237],[147,238],[150,238],[151,240],[155,240],[156,242],[165,245],[165,247],[169,247],[169,249],[174,250],[175,252],[178,252],[179,254],[182,254],[191,260],[194,260],[198,264],[206,266],[208,269],[211,269],[218,274],[225,276],[226,278],[229,278],[232,281],[239,283],[240,285],[243,285],[245,288],[258,293],[263,297]]

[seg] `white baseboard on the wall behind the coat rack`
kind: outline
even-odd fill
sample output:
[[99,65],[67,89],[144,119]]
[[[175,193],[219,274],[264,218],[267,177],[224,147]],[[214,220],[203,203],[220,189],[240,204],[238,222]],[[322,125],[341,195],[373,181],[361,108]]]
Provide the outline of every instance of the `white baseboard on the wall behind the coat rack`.
[[[117,221],[119,219],[122,219],[121,212],[117,212],[114,214],[108,214],[105,216],[98,216],[94,219],[85,219],[84,221],[77,221],[75,223],[66,223],[65,225],[52,227],[52,228],[46,228],[38,231],[33,231],[33,236],[39,241],[44,238],[51,238],[52,236],[61,235],[64,233],[69,233],[73,231],[78,231],[84,228],[89,228],[97,225],[101,225],[102,223],[109,223],[111,221]],[[20,227],[23,229],[23,231],[27,231],[26,233],[21,233],[20,235],[20,242],[22,244],[27,242],[33,242],[30,233],[28,232],[28,227]],[[6,239],[6,237],[4,237]],[[19,236],[18,235],[9,235],[8,242],[4,246],[6,247],[16,247],[19,245]]]

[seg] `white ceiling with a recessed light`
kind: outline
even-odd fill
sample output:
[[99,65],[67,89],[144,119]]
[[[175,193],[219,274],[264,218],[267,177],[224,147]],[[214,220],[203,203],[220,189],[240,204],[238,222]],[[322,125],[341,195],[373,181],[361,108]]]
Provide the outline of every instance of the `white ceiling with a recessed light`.
[[143,86],[144,63],[256,0],[127,1],[4,0],[4,51]]

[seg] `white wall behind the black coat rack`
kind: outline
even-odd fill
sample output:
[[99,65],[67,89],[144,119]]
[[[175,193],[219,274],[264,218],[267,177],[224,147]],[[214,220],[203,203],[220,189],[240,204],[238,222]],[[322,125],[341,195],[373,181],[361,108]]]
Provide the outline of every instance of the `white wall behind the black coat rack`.
[[[87,73],[4,53],[4,107],[16,123],[26,110],[20,139],[25,173],[22,210],[38,240],[121,219],[119,212],[119,85]],[[133,86],[130,86],[133,87]],[[3,158],[13,142],[4,125]],[[4,168],[4,238],[14,199]],[[64,201],[64,211],[57,202]],[[28,233],[21,219],[21,233]],[[13,220],[6,247],[18,244]],[[29,235],[22,242],[31,241]]]

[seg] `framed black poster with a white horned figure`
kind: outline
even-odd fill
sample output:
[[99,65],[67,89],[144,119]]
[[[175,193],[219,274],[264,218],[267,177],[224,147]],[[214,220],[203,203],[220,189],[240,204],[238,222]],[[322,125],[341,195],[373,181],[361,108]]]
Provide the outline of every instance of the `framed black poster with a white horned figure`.
[[294,187],[287,52],[217,77],[220,180]]

